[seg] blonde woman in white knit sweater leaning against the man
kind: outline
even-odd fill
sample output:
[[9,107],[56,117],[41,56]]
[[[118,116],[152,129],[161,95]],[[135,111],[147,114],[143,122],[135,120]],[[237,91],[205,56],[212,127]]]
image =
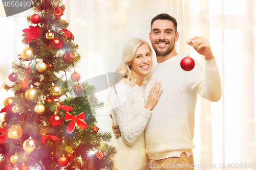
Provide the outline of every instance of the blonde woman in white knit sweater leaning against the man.
[[156,82],[144,104],[144,82],[151,69],[150,45],[140,38],[128,41],[115,70],[123,75],[123,79],[112,90],[109,99],[114,123],[119,125],[122,134],[115,146],[115,169],[147,169],[144,129],[162,93],[161,82]]

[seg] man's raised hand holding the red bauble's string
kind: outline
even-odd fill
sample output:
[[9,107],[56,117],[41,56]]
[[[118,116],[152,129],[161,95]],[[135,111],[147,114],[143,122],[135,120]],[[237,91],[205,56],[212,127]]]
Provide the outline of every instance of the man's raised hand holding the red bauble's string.
[[[194,40],[194,42],[192,42]],[[215,57],[211,53],[210,44],[204,37],[194,36],[187,40],[187,43],[194,47],[194,49],[204,56],[205,60],[213,60]]]

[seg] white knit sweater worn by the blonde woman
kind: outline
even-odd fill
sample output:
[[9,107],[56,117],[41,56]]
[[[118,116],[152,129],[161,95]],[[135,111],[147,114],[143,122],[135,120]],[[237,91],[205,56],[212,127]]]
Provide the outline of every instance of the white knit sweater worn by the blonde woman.
[[129,86],[120,82],[110,95],[110,108],[114,123],[119,125],[122,136],[114,141],[117,154],[114,157],[114,168],[118,170],[147,169],[144,129],[152,111],[144,108],[144,88],[138,85]]

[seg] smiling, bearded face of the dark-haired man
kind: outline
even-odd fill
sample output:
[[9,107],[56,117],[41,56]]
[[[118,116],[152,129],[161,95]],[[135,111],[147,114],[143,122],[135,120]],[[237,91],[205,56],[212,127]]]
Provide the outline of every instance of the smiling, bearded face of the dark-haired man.
[[179,33],[175,33],[174,24],[169,20],[158,19],[152,25],[150,41],[157,56],[166,56],[175,48]]

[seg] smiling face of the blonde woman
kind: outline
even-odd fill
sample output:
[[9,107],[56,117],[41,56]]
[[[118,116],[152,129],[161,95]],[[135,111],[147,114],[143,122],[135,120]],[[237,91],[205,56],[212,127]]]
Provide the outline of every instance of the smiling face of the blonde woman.
[[134,59],[131,61],[131,68],[136,77],[150,74],[151,55],[150,48],[147,45],[143,44],[137,48]]

